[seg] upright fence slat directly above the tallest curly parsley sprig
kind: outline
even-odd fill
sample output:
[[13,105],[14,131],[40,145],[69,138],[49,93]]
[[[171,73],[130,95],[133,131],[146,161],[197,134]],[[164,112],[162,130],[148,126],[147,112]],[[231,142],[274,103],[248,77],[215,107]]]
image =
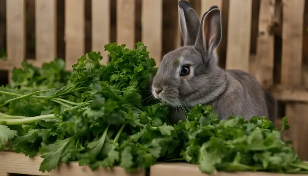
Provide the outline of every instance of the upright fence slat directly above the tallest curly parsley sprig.
[[135,2],[136,0],[117,0],[116,40],[119,45],[136,48],[135,42]]

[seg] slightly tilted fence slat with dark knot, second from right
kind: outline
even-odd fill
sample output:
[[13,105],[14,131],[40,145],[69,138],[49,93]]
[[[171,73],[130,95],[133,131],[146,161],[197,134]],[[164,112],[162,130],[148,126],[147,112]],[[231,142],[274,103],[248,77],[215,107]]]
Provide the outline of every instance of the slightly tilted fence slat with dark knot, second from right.
[[271,26],[274,20],[275,0],[261,0],[259,11],[259,29],[257,36],[256,78],[259,83],[270,88],[273,84],[274,70],[274,34]]

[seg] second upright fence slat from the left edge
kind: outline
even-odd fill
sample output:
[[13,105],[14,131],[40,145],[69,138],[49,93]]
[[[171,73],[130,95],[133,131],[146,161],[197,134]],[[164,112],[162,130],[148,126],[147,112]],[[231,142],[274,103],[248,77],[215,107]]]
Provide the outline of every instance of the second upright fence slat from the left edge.
[[35,0],[35,57],[39,63],[57,56],[56,13],[56,0]]

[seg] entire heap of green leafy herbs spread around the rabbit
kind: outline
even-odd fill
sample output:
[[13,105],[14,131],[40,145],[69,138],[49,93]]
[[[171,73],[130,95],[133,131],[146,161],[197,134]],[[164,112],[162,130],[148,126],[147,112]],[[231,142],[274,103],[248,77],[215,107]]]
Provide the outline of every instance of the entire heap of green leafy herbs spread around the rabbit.
[[[26,62],[15,68],[12,83],[0,88],[0,149],[31,158],[39,152],[42,172],[71,161],[93,170],[186,161],[209,174],[214,168],[308,172],[264,117],[218,120],[212,107],[196,105],[185,122],[170,125],[168,107],[149,101],[156,63],[143,43],[133,50],[110,43],[105,50],[111,57],[107,65],[92,51],[72,72],[64,71],[61,59],[42,68]],[[283,122],[288,129],[287,119]]]

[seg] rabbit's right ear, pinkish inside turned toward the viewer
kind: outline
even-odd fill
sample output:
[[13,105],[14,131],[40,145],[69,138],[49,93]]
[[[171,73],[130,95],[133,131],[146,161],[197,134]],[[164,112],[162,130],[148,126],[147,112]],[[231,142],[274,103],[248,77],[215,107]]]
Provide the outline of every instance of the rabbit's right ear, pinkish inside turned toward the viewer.
[[195,47],[203,55],[210,54],[221,41],[221,12],[212,6],[201,19]]

